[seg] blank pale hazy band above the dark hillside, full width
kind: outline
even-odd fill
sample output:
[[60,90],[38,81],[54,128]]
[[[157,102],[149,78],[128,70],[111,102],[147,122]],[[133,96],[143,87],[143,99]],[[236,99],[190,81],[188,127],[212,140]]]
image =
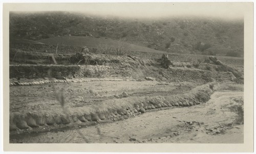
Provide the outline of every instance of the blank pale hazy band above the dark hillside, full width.
[[200,16],[243,19],[249,3],[71,3],[23,4],[19,11],[75,11],[121,17],[179,17]]

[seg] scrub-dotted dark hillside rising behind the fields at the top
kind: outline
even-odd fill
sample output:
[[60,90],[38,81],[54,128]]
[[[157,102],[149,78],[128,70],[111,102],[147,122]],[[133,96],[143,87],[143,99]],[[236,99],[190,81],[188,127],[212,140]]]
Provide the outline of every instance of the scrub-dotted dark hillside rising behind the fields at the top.
[[70,12],[10,13],[11,39],[47,40],[57,36],[108,38],[169,53],[243,56],[244,50],[243,21],[125,19]]

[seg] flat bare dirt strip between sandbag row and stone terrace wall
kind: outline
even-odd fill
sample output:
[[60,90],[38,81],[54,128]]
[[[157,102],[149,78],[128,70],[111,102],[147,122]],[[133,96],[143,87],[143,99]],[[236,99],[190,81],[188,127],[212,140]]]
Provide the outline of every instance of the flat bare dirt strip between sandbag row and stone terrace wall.
[[[118,97],[123,92],[128,96],[165,96],[185,93],[203,83],[175,83],[158,81],[92,81],[54,83],[56,91],[63,89],[67,107],[97,105]],[[10,112],[49,111],[61,109],[52,84],[10,86]]]

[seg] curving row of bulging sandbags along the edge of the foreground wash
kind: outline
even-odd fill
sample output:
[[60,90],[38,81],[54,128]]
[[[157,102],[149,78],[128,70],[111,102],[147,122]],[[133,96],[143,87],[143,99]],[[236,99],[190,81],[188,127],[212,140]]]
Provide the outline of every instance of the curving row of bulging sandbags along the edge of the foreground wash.
[[[138,99],[129,100],[128,98],[118,99],[120,103],[113,102],[106,104],[108,108],[101,108],[101,106],[84,106],[70,108],[69,112],[65,110],[61,112],[56,111],[37,111],[27,113],[10,113],[10,130],[28,129],[44,125],[67,125],[70,123],[81,124],[88,122],[100,122],[101,120],[126,116],[131,117],[137,114],[145,113],[148,110],[161,107],[178,107],[178,106],[192,106],[205,103],[210,99],[210,96],[216,90],[218,83],[211,82],[200,85],[186,94],[177,94],[170,96],[156,96],[156,97],[140,97]],[[121,102],[127,102],[121,103]],[[103,105],[102,105],[103,106]],[[88,110],[88,108],[90,110]]]

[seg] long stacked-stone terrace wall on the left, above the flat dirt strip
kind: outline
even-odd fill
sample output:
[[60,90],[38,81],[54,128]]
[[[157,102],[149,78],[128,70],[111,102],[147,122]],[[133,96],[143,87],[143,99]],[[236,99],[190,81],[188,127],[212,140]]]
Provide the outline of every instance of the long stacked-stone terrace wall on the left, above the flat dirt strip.
[[132,77],[131,68],[120,68],[115,65],[45,65],[45,64],[18,64],[10,65],[10,78],[45,78],[51,76],[56,79],[63,77]]

